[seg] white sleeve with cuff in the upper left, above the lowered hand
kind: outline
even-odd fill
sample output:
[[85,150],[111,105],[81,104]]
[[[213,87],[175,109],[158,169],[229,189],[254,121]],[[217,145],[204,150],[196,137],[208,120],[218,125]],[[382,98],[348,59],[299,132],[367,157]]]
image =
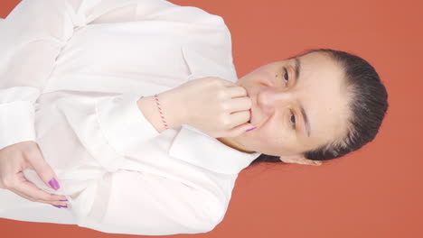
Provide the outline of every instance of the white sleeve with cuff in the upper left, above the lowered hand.
[[136,21],[172,6],[152,0],[24,0],[0,23],[0,149],[35,141],[36,100],[74,31]]

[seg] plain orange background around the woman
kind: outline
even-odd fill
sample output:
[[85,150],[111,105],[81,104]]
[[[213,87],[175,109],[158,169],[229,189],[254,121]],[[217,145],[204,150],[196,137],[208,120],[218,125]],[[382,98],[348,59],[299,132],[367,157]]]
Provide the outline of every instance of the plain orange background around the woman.
[[[2,0],[0,16],[18,2]],[[381,132],[362,150],[320,167],[243,170],[221,224],[174,237],[423,237],[423,1],[171,2],[223,17],[239,77],[305,49],[346,50],[373,65],[390,102]],[[136,237],[0,221],[2,237]]]

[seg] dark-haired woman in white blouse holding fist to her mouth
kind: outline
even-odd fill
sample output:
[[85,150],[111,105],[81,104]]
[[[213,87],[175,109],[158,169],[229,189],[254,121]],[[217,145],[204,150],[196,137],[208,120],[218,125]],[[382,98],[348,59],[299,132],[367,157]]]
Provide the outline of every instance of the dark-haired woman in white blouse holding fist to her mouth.
[[0,27],[4,218],[208,232],[240,170],[355,151],[388,106],[374,69],[342,51],[238,79],[221,17],[164,0],[23,1]]

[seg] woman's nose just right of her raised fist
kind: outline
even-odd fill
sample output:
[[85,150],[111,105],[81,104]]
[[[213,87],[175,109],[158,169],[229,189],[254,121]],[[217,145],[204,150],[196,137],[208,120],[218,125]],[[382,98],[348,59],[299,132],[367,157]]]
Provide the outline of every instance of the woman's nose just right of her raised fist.
[[277,90],[275,87],[267,87],[258,93],[257,103],[263,113],[272,114],[278,108],[290,104],[293,95],[287,91]]

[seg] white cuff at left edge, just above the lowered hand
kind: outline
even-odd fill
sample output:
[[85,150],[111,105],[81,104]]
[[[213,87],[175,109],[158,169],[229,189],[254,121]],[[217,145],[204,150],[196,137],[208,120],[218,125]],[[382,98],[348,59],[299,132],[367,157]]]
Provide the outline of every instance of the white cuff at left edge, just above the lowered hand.
[[0,105],[0,132],[0,150],[17,142],[35,141],[33,103]]

